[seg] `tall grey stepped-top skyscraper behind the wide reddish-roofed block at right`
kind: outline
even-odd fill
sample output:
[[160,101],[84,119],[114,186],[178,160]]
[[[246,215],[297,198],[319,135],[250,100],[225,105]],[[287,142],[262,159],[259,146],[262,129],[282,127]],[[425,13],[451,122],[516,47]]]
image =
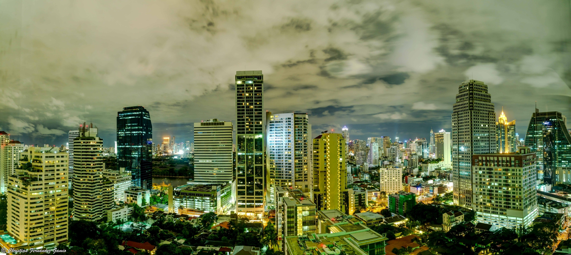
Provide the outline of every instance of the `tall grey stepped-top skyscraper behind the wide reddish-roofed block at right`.
[[452,174],[455,205],[472,208],[472,154],[496,153],[496,113],[488,85],[467,80],[452,112]]

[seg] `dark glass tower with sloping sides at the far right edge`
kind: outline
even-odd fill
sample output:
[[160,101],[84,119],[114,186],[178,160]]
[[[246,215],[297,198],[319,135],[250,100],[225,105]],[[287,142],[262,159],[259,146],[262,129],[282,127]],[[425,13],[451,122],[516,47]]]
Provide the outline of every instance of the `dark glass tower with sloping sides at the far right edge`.
[[571,137],[567,118],[560,112],[535,109],[525,135],[525,146],[537,155],[537,179],[571,184]]

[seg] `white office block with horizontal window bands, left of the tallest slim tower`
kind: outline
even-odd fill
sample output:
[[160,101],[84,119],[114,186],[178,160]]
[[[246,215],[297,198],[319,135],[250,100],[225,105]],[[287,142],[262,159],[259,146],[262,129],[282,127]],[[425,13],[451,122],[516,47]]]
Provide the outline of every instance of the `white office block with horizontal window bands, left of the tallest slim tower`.
[[232,182],[232,128],[216,118],[194,123],[195,182]]

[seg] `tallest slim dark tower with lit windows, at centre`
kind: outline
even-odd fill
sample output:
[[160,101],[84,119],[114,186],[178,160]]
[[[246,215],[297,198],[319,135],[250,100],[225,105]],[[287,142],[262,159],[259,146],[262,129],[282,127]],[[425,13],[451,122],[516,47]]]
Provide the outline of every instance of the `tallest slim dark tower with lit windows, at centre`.
[[262,71],[236,71],[236,201],[238,215],[264,213]]

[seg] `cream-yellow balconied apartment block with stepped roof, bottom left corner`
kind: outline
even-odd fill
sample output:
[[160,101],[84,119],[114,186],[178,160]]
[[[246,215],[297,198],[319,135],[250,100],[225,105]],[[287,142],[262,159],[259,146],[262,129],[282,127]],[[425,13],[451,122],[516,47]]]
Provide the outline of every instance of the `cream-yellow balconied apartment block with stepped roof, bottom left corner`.
[[[7,178],[7,231],[26,248],[67,241],[67,153],[55,147],[22,151],[19,168]],[[27,164],[30,166],[24,166]],[[42,190],[31,190],[31,187]]]

